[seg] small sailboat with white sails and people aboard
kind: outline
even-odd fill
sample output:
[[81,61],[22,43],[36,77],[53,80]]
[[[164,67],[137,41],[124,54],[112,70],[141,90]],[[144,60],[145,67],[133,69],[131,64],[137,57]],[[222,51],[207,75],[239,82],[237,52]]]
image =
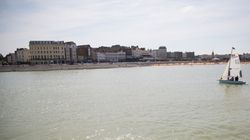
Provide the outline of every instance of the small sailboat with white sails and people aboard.
[[224,84],[243,85],[246,84],[246,82],[241,81],[242,71],[240,68],[240,58],[237,53],[234,53],[234,50],[235,48],[232,47],[230,59],[227,62],[227,66],[219,82]]

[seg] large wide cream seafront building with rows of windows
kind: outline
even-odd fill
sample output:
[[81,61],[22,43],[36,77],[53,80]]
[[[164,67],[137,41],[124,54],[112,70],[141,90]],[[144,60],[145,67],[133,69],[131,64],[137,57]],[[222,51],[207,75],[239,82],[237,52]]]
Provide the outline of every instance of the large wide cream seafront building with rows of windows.
[[64,41],[30,41],[30,56],[32,64],[64,63]]

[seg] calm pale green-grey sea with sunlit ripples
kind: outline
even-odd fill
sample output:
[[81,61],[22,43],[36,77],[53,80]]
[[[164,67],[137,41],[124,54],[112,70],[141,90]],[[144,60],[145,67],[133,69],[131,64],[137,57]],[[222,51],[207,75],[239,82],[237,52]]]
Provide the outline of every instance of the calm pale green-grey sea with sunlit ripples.
[[0,73],[0,139],[250,139],[250,86],[224,67]]

